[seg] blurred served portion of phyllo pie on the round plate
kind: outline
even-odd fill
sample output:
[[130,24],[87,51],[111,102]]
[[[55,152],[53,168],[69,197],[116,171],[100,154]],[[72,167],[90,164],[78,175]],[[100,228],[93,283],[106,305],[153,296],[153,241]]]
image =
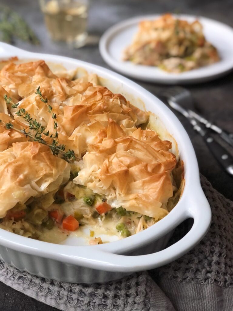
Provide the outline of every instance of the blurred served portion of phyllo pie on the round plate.
[[216,63],[219,56],[216,48],[206,41],[199,21],[189,23],[165,14],[139,23],[123,59],[179,73]]

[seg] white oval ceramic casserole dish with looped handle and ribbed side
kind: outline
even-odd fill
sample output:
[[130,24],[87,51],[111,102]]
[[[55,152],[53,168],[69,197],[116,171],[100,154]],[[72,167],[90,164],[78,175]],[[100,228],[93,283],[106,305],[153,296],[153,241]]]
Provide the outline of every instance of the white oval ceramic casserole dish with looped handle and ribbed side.
[[[179,156],[185,165],[185,187],[178,204],[150,228],[107,244],[74,246],[41,242],[0,229],[1,258],[27,272],[59,281],[75,283],[106,282],[162,266],[189,251],[206,234],[211,210],[200,185],[199,169],[190,139],[176,116],[158,98],[141,86],[105,68],[72,58],[31,53],[0,43],[0,58],[44,59],[62,64],[67,69],[83,67],[94,72],[111,91],[121,93],[132,104],[155,113],[158,126],[177,142]],[[172,230],[183,220],[193,218],[191,230],[177,243],[163,249]]]

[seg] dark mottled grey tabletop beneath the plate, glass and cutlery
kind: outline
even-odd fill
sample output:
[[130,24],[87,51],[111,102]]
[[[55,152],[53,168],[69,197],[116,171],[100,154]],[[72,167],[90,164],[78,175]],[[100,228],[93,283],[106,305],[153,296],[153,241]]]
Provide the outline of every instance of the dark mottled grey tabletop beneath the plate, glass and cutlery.
[[[95,63],[103,67],[108,67],[101,58],[98,51],[98,39],[103,32],[113,24],[126,18],[139,16],[142,14],[177,12],[193,14],[196,16],[206,16],[222,21],[233,26],[232,0],[91,0],[89,14],[89,33],[91,43],[81,49],[71,50],[66,45],[52,43],[46,32],[43,16],[39,10],[38,1],[33,0],[4,0],[1,3],[9,5],[19,12],[34,29],[41,39],[41,46],[35,47],[25,43],[17,43],[18,47],[30,51],[42,53],[59,54],[78,58],[90,63]],[[166,89],[152,83],[137,81],[153,94]],[[209,120],[215,122],[222,128],[233,132],[233,74],[208,82],[187,86],[194,97],[196,107]],[[233,200],[233,178],[227,175],[218,165],[217,161],[209,153],[208,148],[203,143],[190,124],[184,117],[177,115],[181,123],[187,130],[194,145],[199,162],[200,172],[207,177],[220,193]],[[229,149],[230,152],[233,149]],[[34,299],[25,296],[10,287],[0,283],[0,310],[1,311],[27,311],[43,310],[53,311],[55,308],[49,307]]]

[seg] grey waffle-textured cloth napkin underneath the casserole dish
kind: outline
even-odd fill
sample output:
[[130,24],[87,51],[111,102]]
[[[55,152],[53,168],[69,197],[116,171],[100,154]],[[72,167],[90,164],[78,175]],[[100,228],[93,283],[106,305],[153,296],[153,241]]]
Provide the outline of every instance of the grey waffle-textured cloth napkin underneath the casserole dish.
[[[232,311],[233,202],[203,176],[212,224],[203,240],[170,264],[106,284],[71,284],[21,272],[0,262],[0,281],[45,304],[69,311]],[[174,243],[187,223],[175,231]]]

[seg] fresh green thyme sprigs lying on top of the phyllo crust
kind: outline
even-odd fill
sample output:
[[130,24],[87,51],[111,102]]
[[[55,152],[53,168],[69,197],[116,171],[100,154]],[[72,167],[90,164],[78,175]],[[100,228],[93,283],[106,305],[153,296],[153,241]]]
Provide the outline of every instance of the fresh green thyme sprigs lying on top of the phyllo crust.
[[[39,91],[39,89],[37,89],[37,90]],[[41,95],[41,97],[43,100],[45,100],[42,95]],[[11,104],[11,108],[18,108],[19,104],[14,104],[11,97],[8,98],[7,95],[5,95],[4,99],[5,99],[7,104]],[[43,102],[47,104],[48,100],[46,99]],[[48,105],[48,107],[51,107],[51,106]],[[52,112],[52,109],[51,109],[51,112]],[[17,132],[24,134],[26,136],[26,138],[30,137],[35,142],[40,142],[41,144],[47,145],[51,149],[51,151],[53,152],[54,156],[58,156],[60,154],[62,156],[62,159],[66,160],[67,162],[71,162],[71,161],[76,159],[75,153],[73,150],[65,151],[66,146],[59,144],[59,142],[57,141],[57,136],[58,136],[58,134],[57,134],[57,121],[54,121],[54,123],[56,122],[56,133],[53,136],[53,134],[49,135],[49,131],[44,132],[45,128],[43,126],[41,126],[41,123],[39,123],[35,119],[31,118],[30,114],[28,112],[26,112],[26,110],[24,108],[18,109],[18,111],[16,112],[16,115],[22,117],[28,123],[30,130],[34,130],[35,134],[33,135],[31,132],[26,132],[25,128],[23,128],[23,130],[16,128],[16,127],[14,127],[14,125],[11,122],[5,124],[5,127],[7,129],[14,129]],[[56,119],[57,118],[56,114],[53,114],[52,118]],[[2,121],[0,120],[0,122],[2,122]],[[54,127],[55,127],[55,124],[54,124]],[[52,144],[49,144],[48,142],[46,142],[42,138],[42,134],[45,136],[48,136],[50,138],[55,138],[55,139],[53,139]]]

